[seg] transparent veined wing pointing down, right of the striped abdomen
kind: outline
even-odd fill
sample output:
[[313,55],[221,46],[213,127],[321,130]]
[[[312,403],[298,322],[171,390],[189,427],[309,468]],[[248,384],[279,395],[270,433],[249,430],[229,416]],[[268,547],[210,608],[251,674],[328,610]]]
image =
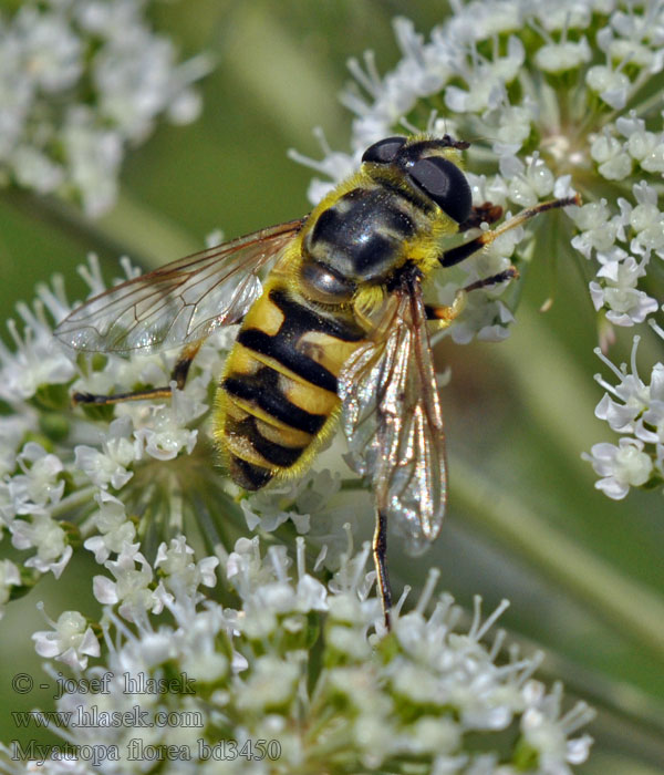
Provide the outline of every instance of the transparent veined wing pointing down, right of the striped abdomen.
[[387,302],[377,341],[340,375],[343,427],[354,469],[370,478],[378,509],[422,550],[440,530],[447,475],[443,414],[417,278]]

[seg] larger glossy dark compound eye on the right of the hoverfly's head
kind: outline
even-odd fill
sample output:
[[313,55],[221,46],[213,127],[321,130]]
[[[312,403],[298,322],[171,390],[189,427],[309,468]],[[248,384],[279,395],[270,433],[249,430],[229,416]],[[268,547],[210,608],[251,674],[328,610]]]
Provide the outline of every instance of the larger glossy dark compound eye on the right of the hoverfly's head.
[[457,224],[468,218],[473,195],[466,176],[456,164],[440,156],[427,156],[415,162],[408,175]]

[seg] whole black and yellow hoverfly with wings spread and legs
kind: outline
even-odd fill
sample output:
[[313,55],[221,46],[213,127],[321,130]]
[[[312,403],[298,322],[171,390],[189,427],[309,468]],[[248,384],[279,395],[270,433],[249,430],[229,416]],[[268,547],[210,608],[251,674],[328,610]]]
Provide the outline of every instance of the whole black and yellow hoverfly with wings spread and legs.
[[[68,345],[93,352],[184,345],[173,372],[181,389],[203,341],[240,323],[216,394],[214,437],[230,476],[249,490],[301,473],[343,413],[354,468],[375,495],[373,555],[387,628],[387,521],[398,520],[424,545],[438,535],[445,512],[443,417],[427,320],[448,326],[467,292],[517,271],[471,283],[447,307],[426,304],[422,282],[538,213],[579,204],[577,197],[542,203],[452,246],[449,237],[502,215],[488,203],[473,207],[460,161],[467,147],[449,135],[384,138],[304,218],[127,280],[55,330]],[[74,402],[169,394],[165,386],[75,394]]]

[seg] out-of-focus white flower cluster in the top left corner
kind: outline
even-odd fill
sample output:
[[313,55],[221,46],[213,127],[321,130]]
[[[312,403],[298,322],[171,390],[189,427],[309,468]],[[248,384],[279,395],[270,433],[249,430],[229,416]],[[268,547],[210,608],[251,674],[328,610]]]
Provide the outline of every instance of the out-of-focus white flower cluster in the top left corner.
[[146,0],[48,0],[0,11],[0,184],[108,209],[127,145],[156,118],[188,123],[210,68],[177,63],[145,19]]

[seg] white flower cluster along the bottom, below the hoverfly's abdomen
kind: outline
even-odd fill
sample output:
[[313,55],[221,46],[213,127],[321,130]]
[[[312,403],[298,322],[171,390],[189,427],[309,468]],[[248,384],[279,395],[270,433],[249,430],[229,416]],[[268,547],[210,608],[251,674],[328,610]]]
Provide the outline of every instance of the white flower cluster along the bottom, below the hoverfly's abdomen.
[[[563,712],[561,688],[532,679],[541,655],[511,648],[500,658],[504,632],[490,648],[480,642],[505,604],[483,621],[476,599],[459,631],[447,595],[425,614],[433,574],[384,637],[369,546],[346,548],[325,586],[307,572],[302,538],[294,569],[283,547],[261,556],[257,538],[240,539],[225,566],[239,604],[222,608],[199,591],[215,560],[194,566],[174,544],[160,550],[170,556],[166,583],[152,585],[168,621],[128,628],[108,609],[108,654],[94,668],[91,630],[75,611],[35,633],[40,653],[74,669],[60,717],[90,720],[65,727],[44,772],[133,773],[151,762],[164,773],[561,775],[585,760],[590,737],[574,734],[593,715],[588,706]],[[132,715],[138,724],[105,723]],[[478,735],[483,745],[468,746]]]

